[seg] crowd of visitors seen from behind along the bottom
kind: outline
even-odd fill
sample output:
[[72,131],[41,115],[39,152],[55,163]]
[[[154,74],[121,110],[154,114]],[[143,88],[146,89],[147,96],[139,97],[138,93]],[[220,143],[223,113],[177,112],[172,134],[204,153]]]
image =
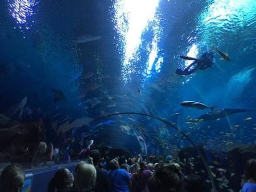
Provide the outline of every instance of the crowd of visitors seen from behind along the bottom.
[[[58,169],[49,181],[48,192],[204,192],[204,182],[196,174],[184,175],[175,160],[157,162],[155,156],[126,159],[101,157],[91,150],[88,162],[80,161],[75,174]],[[21,192],[25,174],[18,164],[4,168],[0,175],[1,192]],[[247,161],[242,192],[256,192],[256,159]]]

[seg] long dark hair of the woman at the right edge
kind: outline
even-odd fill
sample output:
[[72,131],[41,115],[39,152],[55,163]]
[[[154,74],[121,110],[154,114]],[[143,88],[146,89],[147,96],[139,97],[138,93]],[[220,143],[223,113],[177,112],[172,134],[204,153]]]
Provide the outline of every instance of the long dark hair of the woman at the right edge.
[[256,181],[256,159],[250,159],[247,161],[244,170],[244,179],[242,180],[242,186],[245,182]]

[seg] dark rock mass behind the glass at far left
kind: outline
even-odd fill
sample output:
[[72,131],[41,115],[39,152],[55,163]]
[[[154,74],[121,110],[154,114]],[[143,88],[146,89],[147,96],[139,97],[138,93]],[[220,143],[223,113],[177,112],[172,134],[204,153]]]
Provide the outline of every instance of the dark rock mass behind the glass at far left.
[[46,141],[42,123],[12,123],[0,128],[0,162],[31,162]]

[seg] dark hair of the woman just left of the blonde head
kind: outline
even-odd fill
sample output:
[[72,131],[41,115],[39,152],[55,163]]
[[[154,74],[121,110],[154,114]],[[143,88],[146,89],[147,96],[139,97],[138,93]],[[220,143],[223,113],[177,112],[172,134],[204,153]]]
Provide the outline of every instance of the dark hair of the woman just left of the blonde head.
[[50,180],[48,184],[48,192],[55,192],[55,190],[61,190],[66,188],[65,178],[67,178],[67,172],[65,168],[59,169]]

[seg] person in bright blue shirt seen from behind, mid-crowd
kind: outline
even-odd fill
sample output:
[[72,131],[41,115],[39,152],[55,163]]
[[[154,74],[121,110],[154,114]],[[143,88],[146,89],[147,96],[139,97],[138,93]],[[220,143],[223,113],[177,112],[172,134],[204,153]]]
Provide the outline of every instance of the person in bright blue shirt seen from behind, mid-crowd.
[[119,163],[116,159],[110,161],[109,168],[112,192],[131,192],[131,175],[126,170],[119,168]]

